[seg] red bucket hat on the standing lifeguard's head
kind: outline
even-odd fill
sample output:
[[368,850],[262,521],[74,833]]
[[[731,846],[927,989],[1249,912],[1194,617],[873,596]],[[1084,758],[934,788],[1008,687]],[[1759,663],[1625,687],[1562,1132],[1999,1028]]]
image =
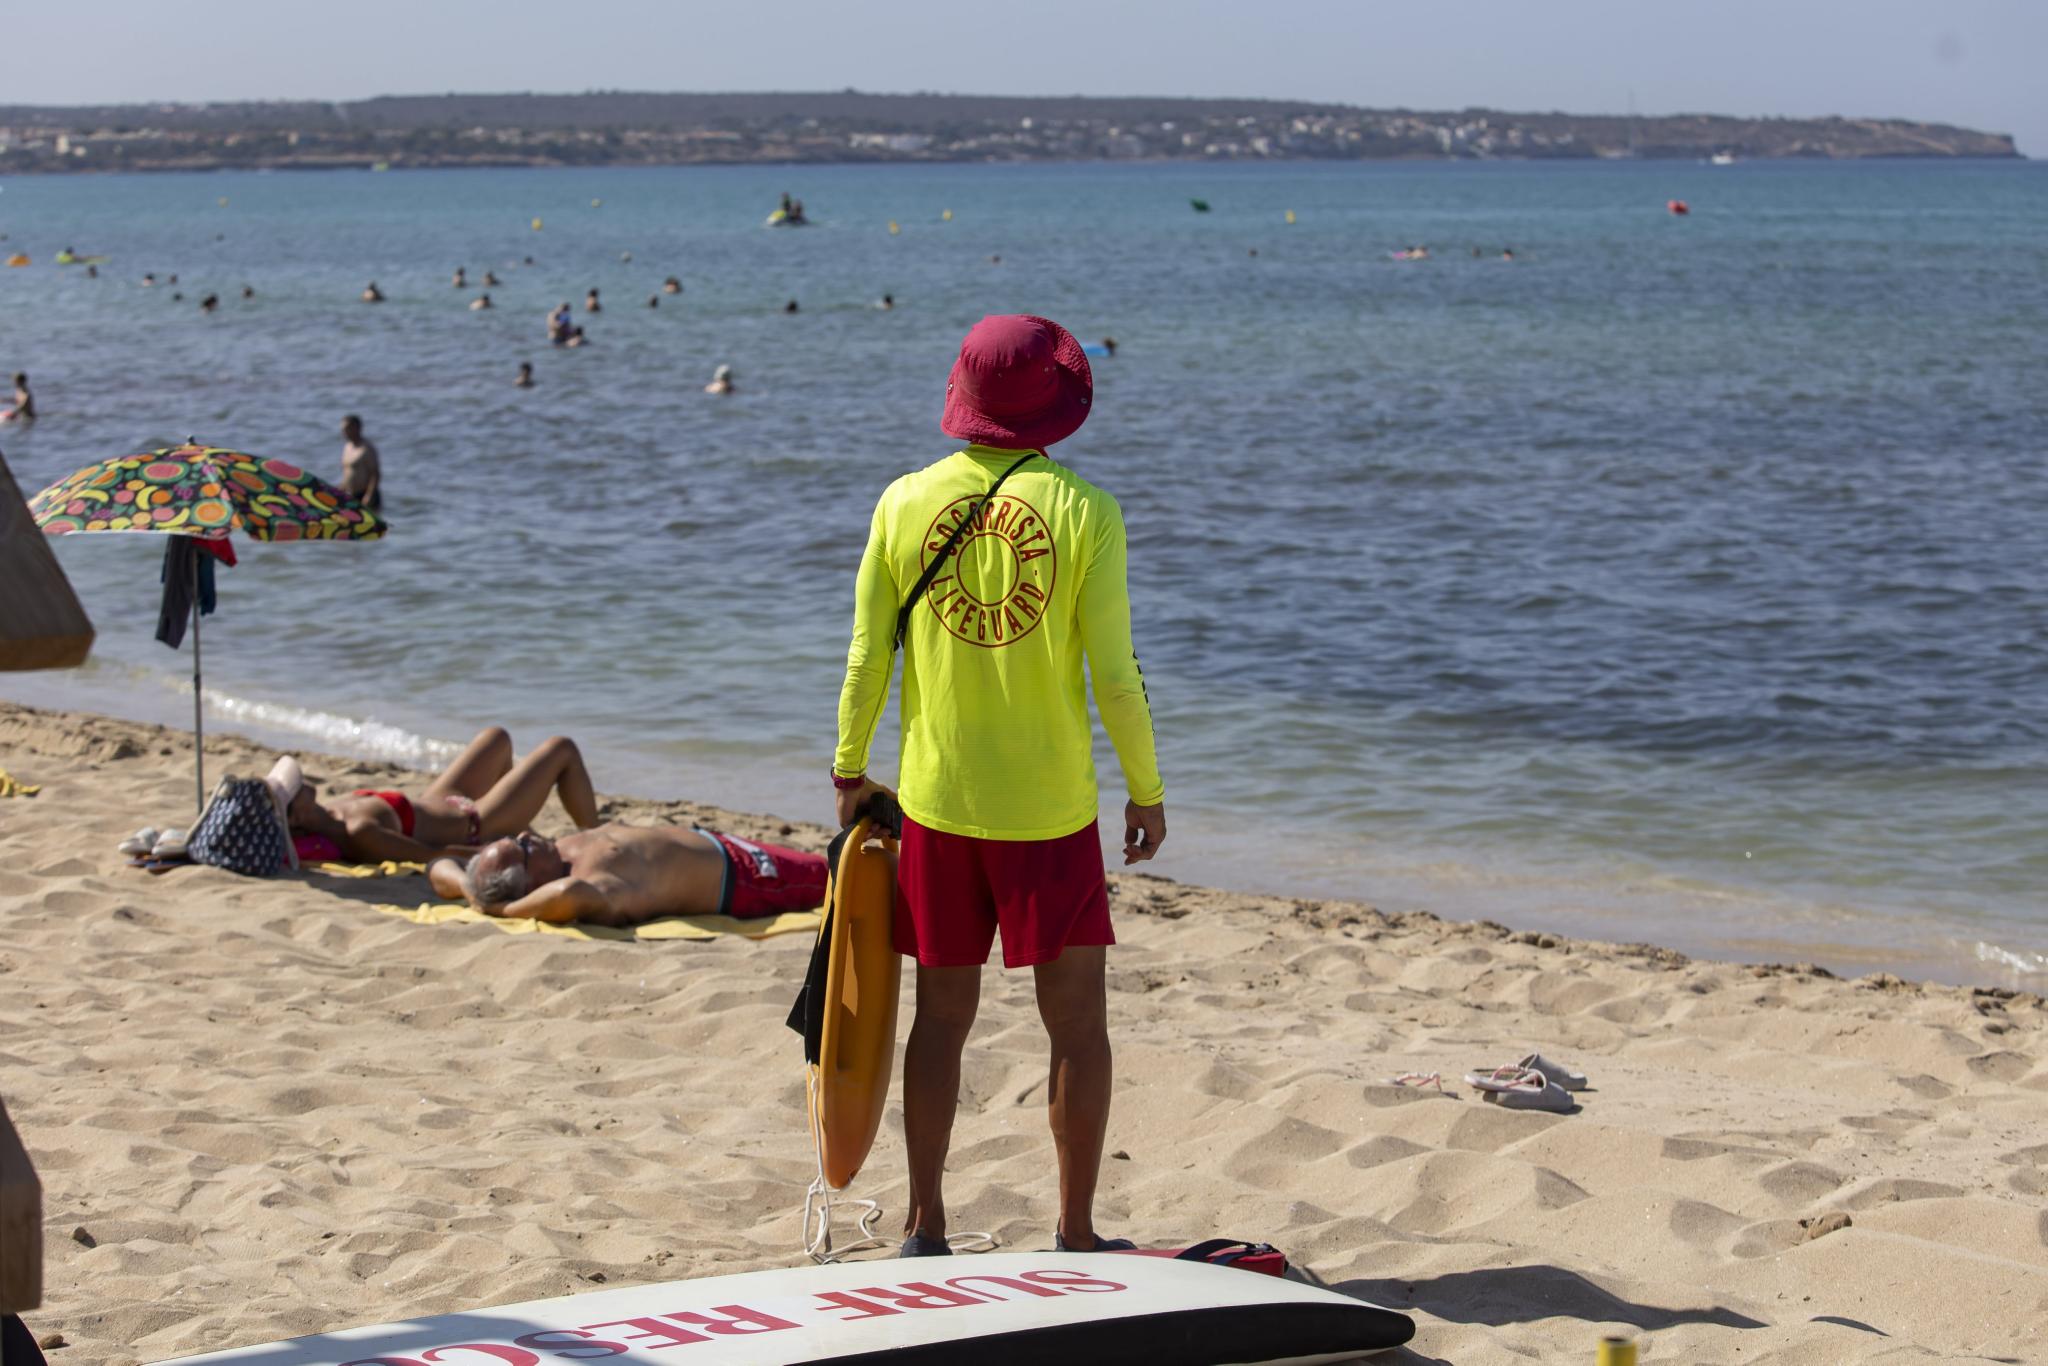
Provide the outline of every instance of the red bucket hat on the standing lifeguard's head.
[[1087,422],[1094,393],[1071,332],[1049,317],[991,313],[961,342],[938,426],[983,446],[1051,446]]

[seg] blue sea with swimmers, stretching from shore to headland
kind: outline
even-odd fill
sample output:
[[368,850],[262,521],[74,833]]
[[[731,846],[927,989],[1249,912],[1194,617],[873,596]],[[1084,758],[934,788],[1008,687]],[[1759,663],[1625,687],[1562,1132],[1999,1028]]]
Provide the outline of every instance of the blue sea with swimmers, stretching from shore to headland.
[[[784,188],[815,225],[762,227]],[[1057,455],[1130,526],[1153,870],[2040,987],[2044,221],[2040,166],[1970,162],[10,178],[45,416],[0,449],[31,492],[184,436],[334,477],[360,414],[395,530],[242,547],[213,725],[430,766],[504,723],[823,819],[872,502],[954,449],[961,334],[1044,313],[1118,342]],[[57,549],[92,664],[0,694],[180,723],[160,547]]]

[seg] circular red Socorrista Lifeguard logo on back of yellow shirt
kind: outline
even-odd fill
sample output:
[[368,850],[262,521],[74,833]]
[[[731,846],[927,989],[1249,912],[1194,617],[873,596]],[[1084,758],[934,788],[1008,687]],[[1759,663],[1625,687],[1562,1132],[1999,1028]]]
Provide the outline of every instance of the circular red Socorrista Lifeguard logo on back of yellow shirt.
[[[981,494],[969,494],[940,508],[924,532],[920,569],[932,563],[979,502]],[[1022,498],[997,494],[975,514],[973,526],[932,578],[924,604],[954,637],[1001,649],[1038,627],[1057,575],[1059,553],[1044,518]]]

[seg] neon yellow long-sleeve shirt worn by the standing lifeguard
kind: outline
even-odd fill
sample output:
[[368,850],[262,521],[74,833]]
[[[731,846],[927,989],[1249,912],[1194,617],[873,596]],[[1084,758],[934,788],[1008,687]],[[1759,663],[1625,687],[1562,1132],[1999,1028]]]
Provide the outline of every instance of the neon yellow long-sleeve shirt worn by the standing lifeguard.
[[[874,504],[834,770],[866,772],[889,700],[897,608],[967,508],[1022,451],[969,446]],[[1096,819],[1081,664],[1130,799],[1163,801],[1145,676],[1130,647],[1124,514],[1047,457],[1024,463],[961,539],[903,637],[897,797],[932,829],[1057,840]]]

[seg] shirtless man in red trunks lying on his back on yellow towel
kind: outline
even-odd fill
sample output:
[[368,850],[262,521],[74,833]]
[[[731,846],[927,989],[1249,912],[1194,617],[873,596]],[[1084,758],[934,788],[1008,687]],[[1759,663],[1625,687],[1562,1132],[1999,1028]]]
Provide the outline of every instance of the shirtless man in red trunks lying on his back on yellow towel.
[[637,926],[662,915],[741,920],[825,903],[825,856],[692,825],[618,825],[547,840],[530,829],[469,860],[436,858],[434,891],[512,920]]

